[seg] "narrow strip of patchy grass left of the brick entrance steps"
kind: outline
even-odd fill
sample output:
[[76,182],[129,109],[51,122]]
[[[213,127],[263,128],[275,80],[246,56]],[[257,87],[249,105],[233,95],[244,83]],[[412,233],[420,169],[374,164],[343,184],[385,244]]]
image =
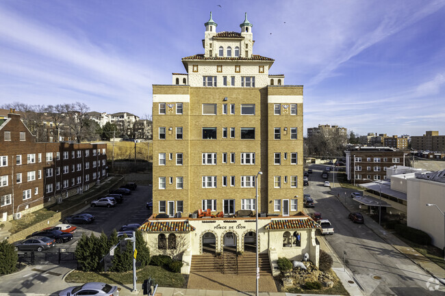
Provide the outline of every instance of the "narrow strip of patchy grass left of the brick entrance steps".
[[[166,271],[162,267],[147,266],[136,271],[138,283],[148,278],[154,278],[155,284],[173,288],[186,288],[187,282],[181,273]],[[84,272],[72,271],[65,279],[66,282],[106,282],[107,284],[133,284],[133,271],[120,272]]]

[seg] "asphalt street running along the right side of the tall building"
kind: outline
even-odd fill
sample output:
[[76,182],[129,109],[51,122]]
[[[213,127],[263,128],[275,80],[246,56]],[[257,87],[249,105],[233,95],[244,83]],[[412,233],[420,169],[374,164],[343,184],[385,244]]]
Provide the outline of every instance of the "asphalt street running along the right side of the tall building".
[[[319,212],[323,219],[331,221],[335,233],[325,239],[341,261],[346,252],[346,265],[364,287],[366,295],[444,295],[443,286],[440,286],[441,291],[435,288],[435,291],[429,291],[431,275],[366,226],[368,216],[364,215],[364,224],[354,224],[348,219],[349,212],[343,204],[329,193],[330,187],[323,186],[326,179],[321,178],[321,172],[324,167],[311,166],[313,173],[309,174],[309,186],[304,192],[314,199],[315,207],[305,208],[305,211]],[[329,174],[331,184],[332,174]],[[346,202],[355,202],[351,190],[346,195]],[[333,267],[340,265],[334,263]]]

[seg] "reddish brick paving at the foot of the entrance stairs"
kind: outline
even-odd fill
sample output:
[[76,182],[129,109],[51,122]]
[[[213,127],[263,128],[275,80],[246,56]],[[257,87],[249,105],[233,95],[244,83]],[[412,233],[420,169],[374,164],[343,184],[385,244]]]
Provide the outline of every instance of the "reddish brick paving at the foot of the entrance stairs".
[[[220,291],[255,291],[255,275],[223,273],[190,273],[187,288]],[[277,292],[272,275],[261,275],[258,282],[261,292]]]

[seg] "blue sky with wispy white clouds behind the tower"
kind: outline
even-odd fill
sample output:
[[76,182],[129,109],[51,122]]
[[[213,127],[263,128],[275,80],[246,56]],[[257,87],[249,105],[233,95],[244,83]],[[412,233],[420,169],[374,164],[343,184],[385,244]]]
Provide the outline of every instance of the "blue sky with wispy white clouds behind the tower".
[[[219,7],[218,5],[221,5]],[[0,105],[151,114],[151,85],[203,53],[209,12],[304,85],[304,128],[445,134],[445,1],[0,1]]]

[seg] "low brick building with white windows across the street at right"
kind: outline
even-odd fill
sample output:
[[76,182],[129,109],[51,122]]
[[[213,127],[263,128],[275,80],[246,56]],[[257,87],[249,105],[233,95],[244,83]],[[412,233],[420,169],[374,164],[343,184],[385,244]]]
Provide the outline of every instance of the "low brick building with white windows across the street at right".
[[351,148],[346,153],[346,175],[355,183],[386,179],[387,167],[405,165],[403,151],[388,147]]

